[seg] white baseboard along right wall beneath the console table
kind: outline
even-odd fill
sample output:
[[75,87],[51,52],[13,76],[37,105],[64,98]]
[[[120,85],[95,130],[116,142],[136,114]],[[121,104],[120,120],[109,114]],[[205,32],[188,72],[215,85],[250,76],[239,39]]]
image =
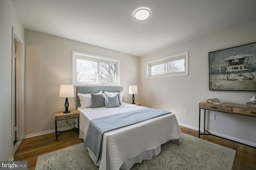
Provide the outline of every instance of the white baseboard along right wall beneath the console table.
[[[186,125],[184,123],[179,123],[180,126],[184,126],[184,127],[188,127],[190,129],[194,129],[196,131],[198,131],[198,127],[194,127],[194,126],[190,126],[190,125]],[[203,132],[204,129],[201,129],[200,128],[200,131]],[[220,137],[224,137],[226,139],[230,139],[232,141],[236,141],[236,142],[239,142],[239,143],[244,143],[246,145],[249,145],[249,146],[252,146],[252,147],[256,147],[256,143],[253,143],[253,142],[250,142],[250,141],[245,141],[243,139],[239,139],[239,138],[235,138],[235,137],[231,137],[231,136],[228,136],[228,135],[223,135],[221,133],[216,133],[216,132],[213,132],[213,131],[209,131],[210,133],[212,133],[213,135],[217,135],[217,136],[220,136]]]

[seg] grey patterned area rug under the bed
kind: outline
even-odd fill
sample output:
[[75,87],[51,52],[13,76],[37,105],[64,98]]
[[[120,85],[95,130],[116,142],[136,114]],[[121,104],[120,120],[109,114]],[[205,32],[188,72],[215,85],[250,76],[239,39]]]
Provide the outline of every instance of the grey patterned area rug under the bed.
[[[183,133],[132,170],[232,170],[236,150]],[[98,170],[84,143],[38,156],[36,170]]]

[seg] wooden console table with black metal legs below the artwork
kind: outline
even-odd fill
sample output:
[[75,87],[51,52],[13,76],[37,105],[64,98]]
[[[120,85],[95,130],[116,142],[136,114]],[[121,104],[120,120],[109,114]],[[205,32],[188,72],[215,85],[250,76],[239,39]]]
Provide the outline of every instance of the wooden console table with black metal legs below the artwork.
[[[201,116],[201,109],[204,109],[204,133],[200,133],[200,116]],[[211,134],[205,129],[205,112],[206,110],[213,110],[213,111],[220,111],[220,112],[225,112],[225,113],[231,113],[231,114],[238,114],[238,115],[245,115],[245,116],[252,116],[256,117],[256,108],[254,107],[246,107],[246,105],[242,104],[211,104],[211,103],[206,103],[206,102],[200,102],[199,103],[199,133],[198,137],[200,138],[200,135],[213,135],[216,137],[220,137],[214,134]],[[223,139],[226,139],[224,137],[220,137]],[[231,139],[227,139],[229,141],[233,141]],[[240,143],[237,141],[233,141],[236,143]],[[244,143],[241,143],[243,145],[246,145]],[[247,145],[249,147],[252,147],[250,145]]]

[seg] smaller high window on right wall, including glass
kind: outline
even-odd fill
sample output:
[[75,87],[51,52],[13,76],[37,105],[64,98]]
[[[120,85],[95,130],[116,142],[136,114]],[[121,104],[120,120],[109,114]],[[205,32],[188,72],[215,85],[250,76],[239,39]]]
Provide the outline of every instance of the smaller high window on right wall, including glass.
[[188,76],[188,51],[146,63],[146,78]]

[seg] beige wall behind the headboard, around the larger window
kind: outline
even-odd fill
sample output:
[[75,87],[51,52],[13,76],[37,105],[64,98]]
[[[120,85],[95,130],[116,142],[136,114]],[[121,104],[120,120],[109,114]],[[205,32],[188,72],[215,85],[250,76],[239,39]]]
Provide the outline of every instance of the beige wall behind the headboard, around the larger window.
[[[65,99],[59,98],[60,84],[71,84],[72,50],[120,59],[124,102],[132,102],[128,90],[129,85],[140,85],[139,57],[26,29],[26,136],[55,128],[55,112],[65,109]],[[68,101],[69,109],[76,109],[76,98]],[[58,128],[66,126],[65,121],[58,121]]]

